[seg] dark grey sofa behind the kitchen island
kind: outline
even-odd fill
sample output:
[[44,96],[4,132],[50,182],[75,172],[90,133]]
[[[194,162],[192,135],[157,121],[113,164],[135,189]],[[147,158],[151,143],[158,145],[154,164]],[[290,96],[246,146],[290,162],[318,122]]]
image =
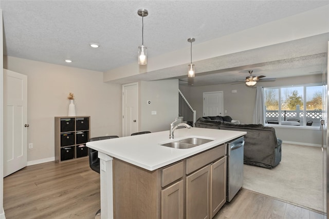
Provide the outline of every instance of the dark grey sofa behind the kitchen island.
[[245,131],[244,163],[272,168],[281,161],[282,141],[273,127],[258,124],[234,124],[230,116],[205,116],[195,122],[195,127]]

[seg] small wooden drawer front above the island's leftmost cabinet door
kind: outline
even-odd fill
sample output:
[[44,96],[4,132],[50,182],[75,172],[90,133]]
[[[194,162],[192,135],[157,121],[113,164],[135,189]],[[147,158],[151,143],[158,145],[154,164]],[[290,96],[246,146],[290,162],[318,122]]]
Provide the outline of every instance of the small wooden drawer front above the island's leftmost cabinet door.
[[165,187],[184,176],[184,161],[161,169],[161,187]]

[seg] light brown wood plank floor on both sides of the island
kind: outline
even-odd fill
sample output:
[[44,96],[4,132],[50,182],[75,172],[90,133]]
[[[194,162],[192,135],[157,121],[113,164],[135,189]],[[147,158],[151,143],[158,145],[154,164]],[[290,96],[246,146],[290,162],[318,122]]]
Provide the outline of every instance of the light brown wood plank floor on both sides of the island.
[[[92,219],[99,208],[99,174],[89,168],[87,157],[60,164],[48,162],[28,166],[4,178],[4,209],[7,219]],[[214,218],[326,217],[243,189]]]

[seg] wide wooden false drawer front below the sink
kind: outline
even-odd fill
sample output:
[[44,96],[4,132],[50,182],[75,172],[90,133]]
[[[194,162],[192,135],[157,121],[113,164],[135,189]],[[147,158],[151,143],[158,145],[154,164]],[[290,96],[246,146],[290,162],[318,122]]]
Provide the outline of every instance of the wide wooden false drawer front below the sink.
[[190,174],[225,155],[226,144],[188,158],[186,160],[186,174]]

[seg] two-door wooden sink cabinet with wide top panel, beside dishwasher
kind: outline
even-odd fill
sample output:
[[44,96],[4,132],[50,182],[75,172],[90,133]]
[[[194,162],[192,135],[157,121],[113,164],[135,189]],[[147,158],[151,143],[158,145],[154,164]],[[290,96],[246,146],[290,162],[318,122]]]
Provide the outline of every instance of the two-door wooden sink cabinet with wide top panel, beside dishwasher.
[[186,172],[202,165],[186,176],[187,219],[212,218],[226,202],[226,145],[188,158]]

